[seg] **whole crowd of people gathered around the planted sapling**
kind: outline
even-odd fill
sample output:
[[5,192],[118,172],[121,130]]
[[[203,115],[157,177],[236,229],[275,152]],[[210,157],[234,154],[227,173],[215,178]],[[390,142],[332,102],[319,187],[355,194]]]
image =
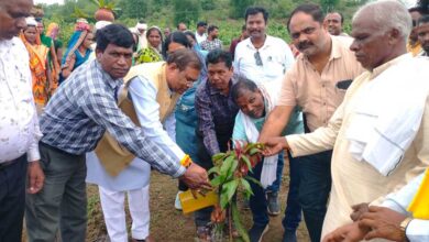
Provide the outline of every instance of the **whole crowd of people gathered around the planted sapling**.
[[[85,241],[87,183],[110,241],[152,242],[151,170],[178,178],[182,209],[235,142],[265,146],[243,205],[251,242],[280,213],[279,193],[284,242],[301,215],[312,242],[429,241],[427,8],[370,2],[345,33],[341,12],[300,4],[288,44],[249,7],[230,46],[204,21],[172,32],[78,19],[63,46],[32,7],[0,0],[0,242],[21,241],[24,216],[31,242]],[[211,241],[212,210],[194,213],[199,241]]]

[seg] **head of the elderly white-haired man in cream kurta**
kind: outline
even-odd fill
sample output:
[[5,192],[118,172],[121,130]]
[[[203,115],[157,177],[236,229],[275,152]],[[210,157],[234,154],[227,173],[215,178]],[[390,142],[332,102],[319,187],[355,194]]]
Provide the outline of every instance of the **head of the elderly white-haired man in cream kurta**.
[[371,2],[353,16],[350,48],[366,69],[374,69],[405,53],[411,18],[397,1]]

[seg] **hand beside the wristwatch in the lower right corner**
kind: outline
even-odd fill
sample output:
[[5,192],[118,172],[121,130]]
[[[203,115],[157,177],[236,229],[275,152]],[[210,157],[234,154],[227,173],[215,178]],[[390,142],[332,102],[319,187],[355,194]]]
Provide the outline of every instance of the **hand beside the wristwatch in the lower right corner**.
[[363,213],[359,226],[371,228],[365,240],[382,238],[392,241],[404,241],[404,233],[400,230],[400,222],[407,217],[384,207],[371,206],[369,211]]

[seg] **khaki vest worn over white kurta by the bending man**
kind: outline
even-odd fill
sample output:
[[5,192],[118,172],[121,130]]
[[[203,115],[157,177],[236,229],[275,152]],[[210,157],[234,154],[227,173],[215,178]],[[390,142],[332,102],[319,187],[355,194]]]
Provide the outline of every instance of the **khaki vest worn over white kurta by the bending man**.
[[[130,80],[136,76],[145,77],[156,87],[156,102],[160,105],[160,122],[164,122],[165,118],[174,111],[179,95],[172,94],[168,89],[165,68],[165,62],[146,63],[132,67],[125,76],[125,87],[119,95],[118,107],[135,125],[140,127],[140,122],[134,106],[128,98],[128,86],[130,85]],[[119,144],[107,131],[99,141],[95,152],[100,160],[100,163],[106,168],[106,172],[111,176],[118,176],[118,174],[127,168],[135,157],[135,155]]]

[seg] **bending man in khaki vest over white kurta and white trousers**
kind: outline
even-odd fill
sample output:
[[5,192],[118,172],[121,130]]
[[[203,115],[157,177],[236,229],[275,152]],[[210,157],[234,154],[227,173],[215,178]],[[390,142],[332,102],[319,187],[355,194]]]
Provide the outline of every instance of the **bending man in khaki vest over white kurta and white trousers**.
[[[119,95],[121,110],[160,145],[162,152],[177,160],[187,155],[168,136],[163,123],[173,113],[179,96],[198,79],[200,68],[201,63],[193,51],[179,50],[170,54],[167,62],[132,67]],[[99,162],[88,161],[87,182],[99,185],[110,240],[124,241],[128,238],[123,210],[127,191],[133,218],[132,238],[150,241],[150,165],[121,148],[109,134],[101,139],[96,153]]]

